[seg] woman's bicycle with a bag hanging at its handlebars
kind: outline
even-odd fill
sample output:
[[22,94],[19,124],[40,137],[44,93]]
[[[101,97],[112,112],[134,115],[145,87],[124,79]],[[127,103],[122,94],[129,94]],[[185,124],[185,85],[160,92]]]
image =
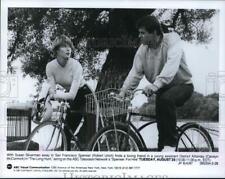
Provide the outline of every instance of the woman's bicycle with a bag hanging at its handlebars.
[[[97,120],[99,118],[98,104],[93,91],[91,94],[93,95],[93,103],[96,104],[95,114],[97,115],[95,115],[95,117]],[[37,106],[39,106],[40,108],[38,110],[39,113],[44,112],[44,106],[46,104],[46,100],[49,100],[48,95],[46,96],[44,100],[37,101]],[[67,121],[66,121],[67,110],[69,110],[70,108],[69,103],[66,100],[58,101],[58,103],[59,105],[57,106],[55,111],[53,111],[55,115],[52,115],[50,119],[46,121],[42,121],[43,115],[40,115],[40,114],[39,114],[39,119],[37,116],[34,118],[35,120],[33,120],[33,122],[38,125],[34,128],[34,130],[29,135],[28,139],[26,140],[25,150],[66,151],[68,144],[66,140],[66,135],[64,133],[65,128],[69,131],[72,137],[71,150],[75,150],[75,151],[85,150],[85,148],[82,147],[79,141],[79,138],[77,137],[77,134],[79,133],[83,125],[84,119],[81,120],[76,131],[73,133],[70,127],[67,125]],[[71,113],[73,112],[74,111],[71,111]]]

